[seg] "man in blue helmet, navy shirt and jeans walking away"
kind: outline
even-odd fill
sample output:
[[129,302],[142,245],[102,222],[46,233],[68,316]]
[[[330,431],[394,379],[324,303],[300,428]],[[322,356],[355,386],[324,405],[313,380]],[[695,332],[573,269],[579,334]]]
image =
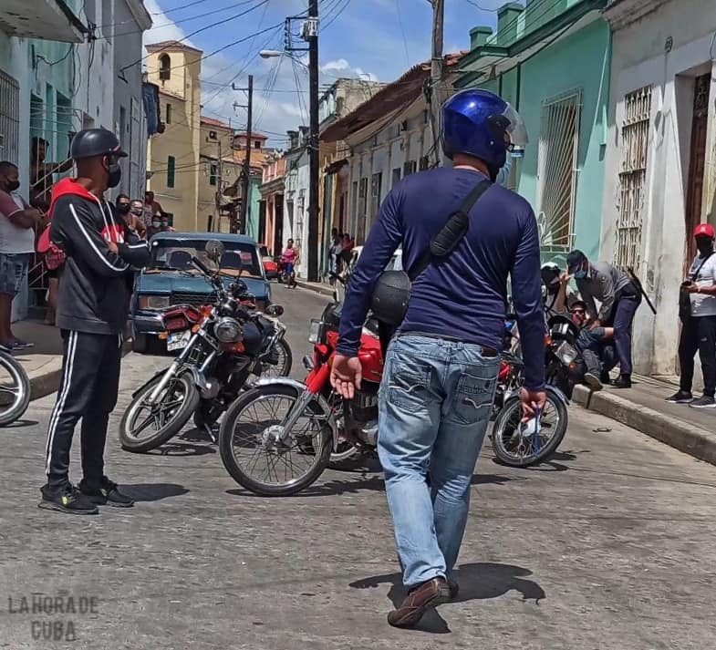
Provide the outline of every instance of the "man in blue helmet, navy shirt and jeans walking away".
[[[380,389],[379,457],[408,590],[388,616],[397,627],[417,624],[427,609],[457,593],[451,573],[490,419],[508,275],[522,335],[524,417],[545,404],[537,223],[527,201],[490,183],[507,150],[526,142],[523,122],[503,99],[481,89],[463,90],[441,113],[442,148],[454,168],[412,174],[383,201],[348,287],[331,371],[337,392],[352,398],[361,379],[361,330],[379,275],[400,244],[405,268],[415,269],[431,239],[464,210],[458,218],[467,230],[456,247],[440,261],[420,263]],[[470,204],[474,208],[462,207]]]

